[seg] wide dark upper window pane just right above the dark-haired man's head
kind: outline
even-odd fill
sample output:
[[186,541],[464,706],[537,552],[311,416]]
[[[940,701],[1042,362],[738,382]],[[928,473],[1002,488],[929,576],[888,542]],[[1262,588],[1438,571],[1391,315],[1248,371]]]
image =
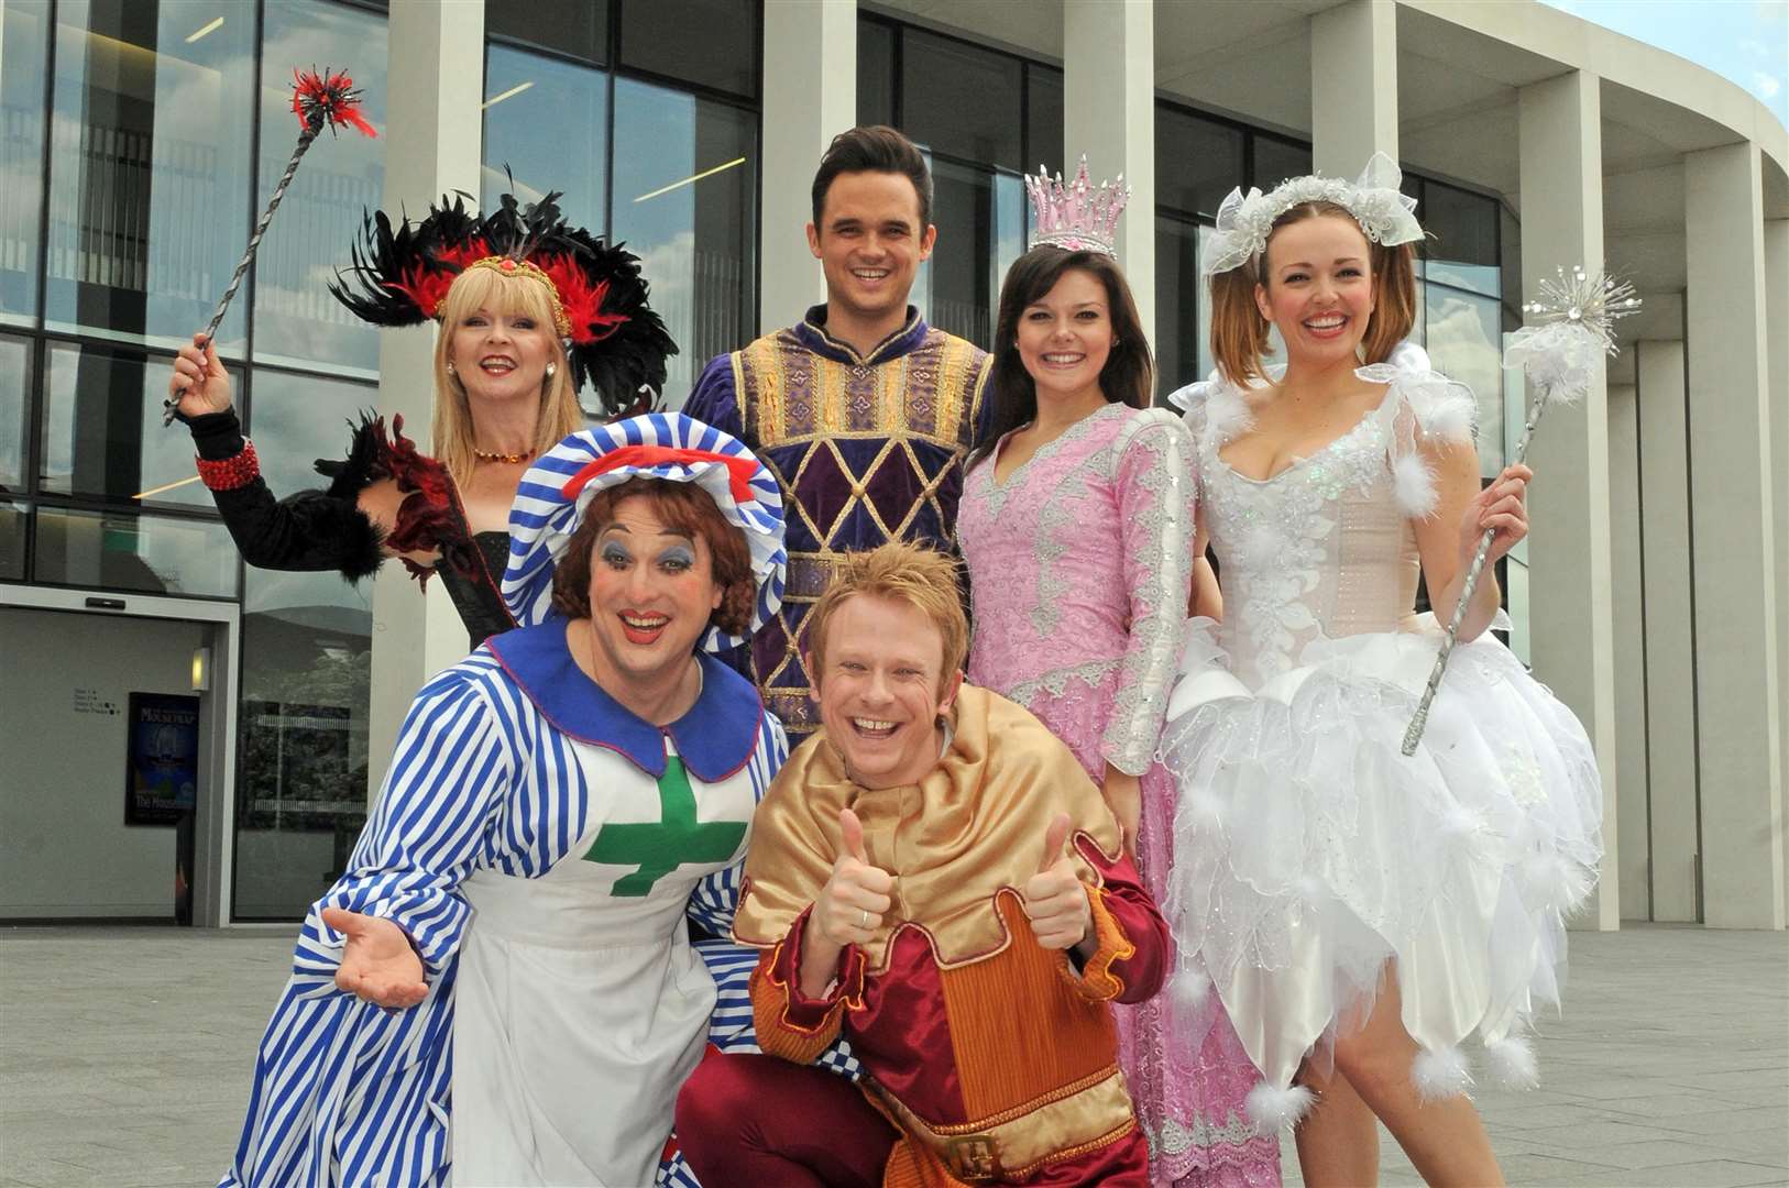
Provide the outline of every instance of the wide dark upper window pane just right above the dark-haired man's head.
[[1005,54],[903,30],[902,131],[932,152],[1023,172],[1022,68]]

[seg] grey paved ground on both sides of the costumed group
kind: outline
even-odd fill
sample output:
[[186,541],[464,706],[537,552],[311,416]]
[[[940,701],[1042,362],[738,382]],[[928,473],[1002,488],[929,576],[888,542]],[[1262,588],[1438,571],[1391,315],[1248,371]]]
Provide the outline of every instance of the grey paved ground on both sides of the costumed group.
[[[1510,1183],[1789,1184],[1789,936],[1571,945],[1542,1088],[1478,1099]],[[0,929],[0,1188],[213,1184],[288,954],[284,932]],[[1381,1183],[1420,1183],[1381,1152]]]

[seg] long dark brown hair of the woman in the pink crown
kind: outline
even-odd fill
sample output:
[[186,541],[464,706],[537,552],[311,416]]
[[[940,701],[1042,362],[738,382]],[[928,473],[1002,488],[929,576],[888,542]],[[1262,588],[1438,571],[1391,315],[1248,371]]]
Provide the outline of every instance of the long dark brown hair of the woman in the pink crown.
[[975,458],[993,449],[1007,431],[1038,419],[1038,383],[1018,356],[1018,320],[1032,302],[1043,301],[1056,288],[1064,272],[1073,268],[1106,288],[1106,308],[1113,320],[1113,351],[1100,369],[1100,394],[1107,403],[1149,408],[1156,392],[1156,360],[1150,358],[1143,320],[1136,313],[1131,284],[1118,270],[1118,261],[1104,252],[1070,252],[1045,243],[1020,256],[1007,268],[1007,279],[1000,286],[995,363],[989,376],[995,412]]

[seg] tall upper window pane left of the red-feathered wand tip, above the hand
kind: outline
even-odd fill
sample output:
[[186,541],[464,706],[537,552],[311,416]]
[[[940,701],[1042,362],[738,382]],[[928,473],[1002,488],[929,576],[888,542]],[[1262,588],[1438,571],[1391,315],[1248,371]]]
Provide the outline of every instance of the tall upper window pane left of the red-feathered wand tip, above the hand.
[[[209,322],[249,238],[252,70],[233,0],[57,5],[50,326],[166,347]],[[243,349],[240,304],[218,344]]]

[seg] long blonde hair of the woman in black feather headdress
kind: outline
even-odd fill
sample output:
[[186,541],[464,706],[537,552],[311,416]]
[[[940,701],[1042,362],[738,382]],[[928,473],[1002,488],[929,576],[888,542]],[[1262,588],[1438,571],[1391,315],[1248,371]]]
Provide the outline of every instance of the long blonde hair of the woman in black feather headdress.
[[578,392],[571,381],[571,363],[565,344],[553,329],[553,301],[546,286],[528,276],[503,276],[496,268],[467,268],[454,277],[440,304],[440,333],[435,336],[435,456],[462,487],[472,479],[476,458],[472,449],[472,412],[467,408],[465,385],[447,372],[447,352],[453,333],[467,317],[490,310],[506,317],[531,317],[553,340],[553,376],[540,385],[540,410],[535,417],[537,454],[558,446],[565,437],[585,426],[578,408]]

